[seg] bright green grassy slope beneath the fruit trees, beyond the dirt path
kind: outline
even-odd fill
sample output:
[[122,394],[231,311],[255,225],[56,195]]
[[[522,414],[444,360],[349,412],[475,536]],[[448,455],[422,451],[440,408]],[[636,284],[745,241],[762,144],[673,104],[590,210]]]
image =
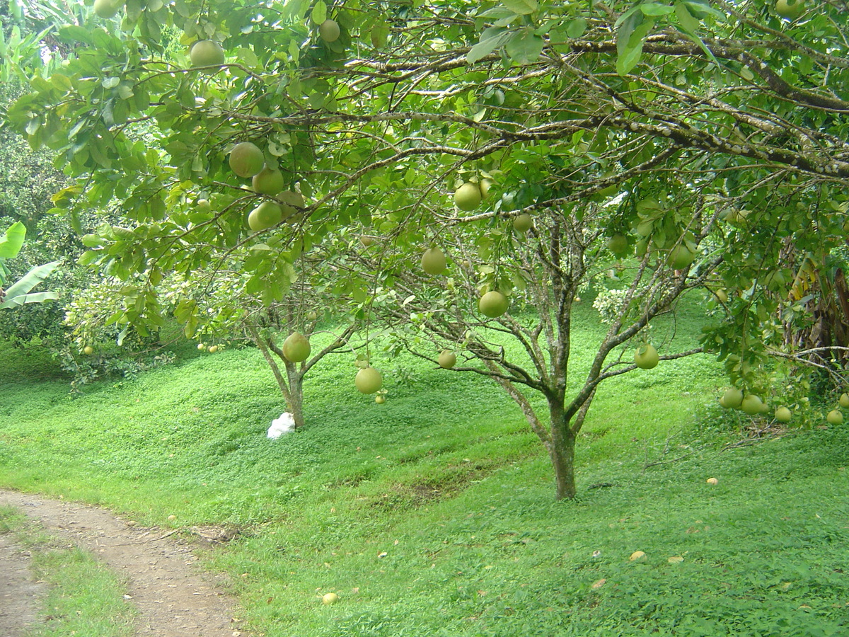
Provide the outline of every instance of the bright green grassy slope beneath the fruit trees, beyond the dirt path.
[[[599,329],[584,312],[578,367]],[[12,370],[0,377],[0,484],[164,526],[240,525],[211,559],[268,635],[849,632],[843,429],[720,452],[705,426],[717,366],[664,363],[599,392],[580,498],[555,503],[548,459],[497,387],[378,360],[391,389],[380,406],[353,391],[351,358],[315,369],[308,426],[269,442],[284,407],[256,352],[70,400],[0,351]],[[614,486],[588,488],[599,482]],[[628,561],[634,550],[647,558]],[[339,604],[321,605],[328,591]]]

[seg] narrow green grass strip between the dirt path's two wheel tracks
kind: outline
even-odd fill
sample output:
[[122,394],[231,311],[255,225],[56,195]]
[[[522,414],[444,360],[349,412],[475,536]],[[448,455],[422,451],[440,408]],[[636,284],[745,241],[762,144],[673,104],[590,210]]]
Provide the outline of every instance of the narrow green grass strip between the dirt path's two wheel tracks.
[[48,584],[39,621],[25,637],[130,637],[135,610],[124,600],[127,590],[114,572],[85,551],[62,544],[14,509],[0,507],[0,533],[31,553],[33,576]]

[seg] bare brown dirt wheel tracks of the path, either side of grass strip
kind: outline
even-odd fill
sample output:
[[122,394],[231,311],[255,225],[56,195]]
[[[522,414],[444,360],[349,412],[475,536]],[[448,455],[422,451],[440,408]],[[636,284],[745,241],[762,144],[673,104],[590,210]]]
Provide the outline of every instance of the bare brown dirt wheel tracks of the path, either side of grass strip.
[[[136,634],[157,637],[233,637],[247,633],[233,620],[235,604],[216,588],[216,578],[194,566],[197,558],[161,529],[146,529],[109,511],[80,503],[60,502],[0,489],[0,505],[14,506],[40,521],[50,533],[97,555],[129,582],[127,595],[138,606]],[[7,570],[7,568],[9,570]],[[0,535],[0,572],[13,577],[0,583],[0,634],[20,630],[19,616],[32,600],[33,583],[25,556]],[[0,578],[6,579],[6,578]],[[223,580],[218,582],[223,583]],[[11,619],[4,614],[8,599],[17,598]],[[4,619],[9,626],[4,627]],[[19,624],[18,628],[11,625]]]

